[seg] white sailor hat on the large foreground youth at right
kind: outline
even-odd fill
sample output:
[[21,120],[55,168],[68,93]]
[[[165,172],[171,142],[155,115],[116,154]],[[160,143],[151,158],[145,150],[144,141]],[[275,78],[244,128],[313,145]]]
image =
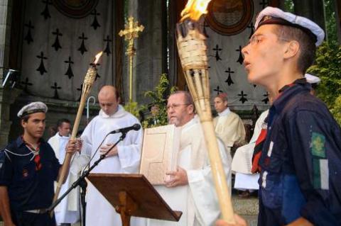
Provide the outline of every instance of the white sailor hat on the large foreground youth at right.
[[319,46],[325,38],[323,29],[308,18],[296,16],[271,6],[266,7],[258,14],[254,27],[257,29],[264,24],[281,24],[300,28],[313,38],[316,46]]

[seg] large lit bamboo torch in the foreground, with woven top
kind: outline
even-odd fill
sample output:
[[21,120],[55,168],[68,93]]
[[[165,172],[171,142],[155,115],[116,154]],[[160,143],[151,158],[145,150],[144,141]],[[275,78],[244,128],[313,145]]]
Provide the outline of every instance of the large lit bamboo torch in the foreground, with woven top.
[[202,13],[207,13],[206,8],[209,2],[210,0],[188,1],[185,9],[181,12],[183,18],[181,18],[180,23],[176,26],[177,45],[188,89],[193,97],[195,108],[204,130],[222,218],[229,223],[234,223],[231,196],[229,195],[227,181],[224,176],[215,128],[212,123],[206,38],[200,32],[200,25],[197,23]]

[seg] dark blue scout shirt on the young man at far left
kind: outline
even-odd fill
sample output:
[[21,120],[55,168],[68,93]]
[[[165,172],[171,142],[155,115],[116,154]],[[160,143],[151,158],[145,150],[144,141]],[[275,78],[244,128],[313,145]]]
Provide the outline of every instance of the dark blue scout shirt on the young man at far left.
[[[6,149],[16,154],[31,152],[21,137],[7,145]],[[16,154],[0,151],[0,186],[8,188],[11,209],[21,211],[48,208],[53,200],[53,182],[60,169],[55,152],[47,142],[40,140],[41,169],[38,171],[32,159],[33,154]]]

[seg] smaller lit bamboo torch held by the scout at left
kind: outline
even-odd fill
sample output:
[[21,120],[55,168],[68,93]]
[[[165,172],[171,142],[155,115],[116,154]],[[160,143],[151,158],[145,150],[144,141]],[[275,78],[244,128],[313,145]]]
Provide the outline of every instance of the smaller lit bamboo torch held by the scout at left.
[[[80,119],[82,118],[82,113],[83,113],[83,109],[85,106],[85,102],[87,101],[87,96],[89,96],[90,94],[92,84],[94,84],[94,79],[96,78],[96,74],[97,74],[96,64],[99,60],[99,57],[101,57],[102,53],[103,52],[99,52],[96,55],[94,63],[91,64],[90,67],[87,69],[87,74],[85,75],[85,79],[83,81],[83,86],[82,86],[82,96],[80,98],[80,106],[78,107],[77,116],[75,119],[75,124],[73,125],[73,128],[72,128],[72,134],[71,134],[70,140],[74,140],[76,138],[78,127],[80,125]],[[63,166],[62,166],[62,171],[60,173],[59,180],[58,180],[58,185],[57,185],[57,188],[55,189],[55,196],[53,197],[53,201],[57,200],[58,195],[60,193],[60,188],[63,185],[65,176],[67,176],[66,175],[67,169],[69,169],[70,167],[71,157],[72,157],[71,154],[66,154],[65,156]],[[53,215],[53,212],[51,212],[51,215]]]

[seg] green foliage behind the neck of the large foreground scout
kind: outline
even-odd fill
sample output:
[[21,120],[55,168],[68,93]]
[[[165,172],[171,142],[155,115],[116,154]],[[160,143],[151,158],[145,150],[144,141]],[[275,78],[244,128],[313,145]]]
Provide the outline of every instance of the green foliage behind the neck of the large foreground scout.
[[323,43],[316,52],[315,64],[308,73],[320,77],[317,96],[328,106],[335,119],[341,122],[341,46]]

